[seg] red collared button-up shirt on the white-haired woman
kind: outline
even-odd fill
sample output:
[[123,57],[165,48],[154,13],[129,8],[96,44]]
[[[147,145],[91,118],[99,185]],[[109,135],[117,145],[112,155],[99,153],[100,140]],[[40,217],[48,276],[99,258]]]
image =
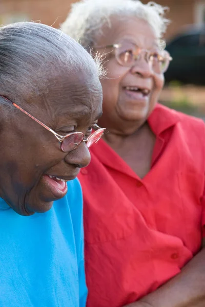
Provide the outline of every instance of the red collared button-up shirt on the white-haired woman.
[[199,251],[205,224],[205,126],[157,105],[149,173],[140,179],[100,140],[84,192],[88,307],[120,307],[157,289]]

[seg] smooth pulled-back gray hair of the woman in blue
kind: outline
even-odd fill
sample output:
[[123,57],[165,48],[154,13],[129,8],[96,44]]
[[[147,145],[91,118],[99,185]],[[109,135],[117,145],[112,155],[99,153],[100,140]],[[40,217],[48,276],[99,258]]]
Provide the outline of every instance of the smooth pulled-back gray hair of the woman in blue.
[[62,70],[100,74],[99,62],[57,29],[32,22],[0,28],[0,95],[26,101],[45,94]]

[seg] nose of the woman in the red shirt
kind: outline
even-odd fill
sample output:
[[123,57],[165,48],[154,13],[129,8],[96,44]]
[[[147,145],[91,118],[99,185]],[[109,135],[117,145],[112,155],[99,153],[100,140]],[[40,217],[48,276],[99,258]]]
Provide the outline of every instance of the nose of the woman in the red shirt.
[[131,68],[132,74],[137,74],[142,78],[150,78],[153,76],[151,64],[145,59],[145,55],[141,55]]

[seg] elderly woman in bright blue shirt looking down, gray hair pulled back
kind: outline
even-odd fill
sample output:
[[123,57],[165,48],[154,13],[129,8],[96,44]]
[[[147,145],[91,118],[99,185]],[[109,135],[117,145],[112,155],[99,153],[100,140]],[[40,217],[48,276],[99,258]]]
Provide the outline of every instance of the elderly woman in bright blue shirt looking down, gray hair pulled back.
[[0,306],[84,307],[81,167],[103,134],[99,65],[66,34],[0,29]]

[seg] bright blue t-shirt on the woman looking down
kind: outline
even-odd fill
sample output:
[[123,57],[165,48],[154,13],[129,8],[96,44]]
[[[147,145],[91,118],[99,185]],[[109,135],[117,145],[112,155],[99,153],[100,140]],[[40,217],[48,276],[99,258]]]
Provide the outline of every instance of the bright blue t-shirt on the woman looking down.
[[0,199],[0,306],[84,307],[82,194],[67,195],[46,213],[22,216]]

